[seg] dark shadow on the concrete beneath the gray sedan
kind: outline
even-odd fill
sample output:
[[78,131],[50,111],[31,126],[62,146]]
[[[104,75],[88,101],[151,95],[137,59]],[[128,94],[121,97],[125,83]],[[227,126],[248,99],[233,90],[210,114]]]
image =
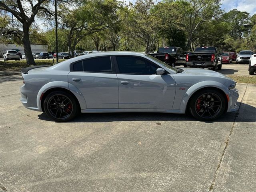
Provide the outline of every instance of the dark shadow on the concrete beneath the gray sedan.
[[[238,106],[240,105],[237,102]],[[246,111],[239,116],[241,109],[246,108]],[[54,121],[49,118],[46,113],[38,115],[40,120]],[[245,103],[241,103],[240,109],[237,112],[228,112],[213,122],[255,122],[256,108]],[[77,116],[74,120],[69,122],[114,122],[114,121],[198,121],[191,115],[185,114],[170,114],[170,113],[145,113],[145,112],[122,112],[122,113],[84,113]]]

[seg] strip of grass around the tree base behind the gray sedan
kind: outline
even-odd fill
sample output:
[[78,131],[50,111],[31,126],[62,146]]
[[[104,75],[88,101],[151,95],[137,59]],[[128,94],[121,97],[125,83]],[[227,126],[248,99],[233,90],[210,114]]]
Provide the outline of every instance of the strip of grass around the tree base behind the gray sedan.
[[[59,59],[59,62],[64,61],[63,59]],[[46,59],[46,60],[36,60],[36,65],[53,65],[52,59]],[[56,59],[54,59],[54,62],[56,62]],[[28,67],[26,60],[10,60],[4,63],[3,60],[0,61],[0,71],[20,71],[21,68]]]

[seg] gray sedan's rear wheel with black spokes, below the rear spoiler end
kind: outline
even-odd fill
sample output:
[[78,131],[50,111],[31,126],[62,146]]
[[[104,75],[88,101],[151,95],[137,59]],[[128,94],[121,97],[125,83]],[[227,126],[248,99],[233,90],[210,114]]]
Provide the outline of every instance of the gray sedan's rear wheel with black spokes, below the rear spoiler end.
[[44,111],[48,117],[56,122],[66,122],[78,114],[79,106],[71,94],[64,91],[54,91],[46,96]]

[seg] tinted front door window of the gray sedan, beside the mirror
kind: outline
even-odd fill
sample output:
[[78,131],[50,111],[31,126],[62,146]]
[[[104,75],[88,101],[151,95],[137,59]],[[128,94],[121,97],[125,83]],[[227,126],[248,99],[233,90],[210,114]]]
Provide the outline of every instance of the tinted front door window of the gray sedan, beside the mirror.
[[138,57],[116,56],[122,74],[156,74],[158,66]]

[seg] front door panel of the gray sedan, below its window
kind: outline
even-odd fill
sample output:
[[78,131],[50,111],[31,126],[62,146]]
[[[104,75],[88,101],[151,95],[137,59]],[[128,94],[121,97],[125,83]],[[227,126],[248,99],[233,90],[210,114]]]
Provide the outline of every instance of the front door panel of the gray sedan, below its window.
[[119,108],[171,109],[176,85],[171,75],[117,74]]

